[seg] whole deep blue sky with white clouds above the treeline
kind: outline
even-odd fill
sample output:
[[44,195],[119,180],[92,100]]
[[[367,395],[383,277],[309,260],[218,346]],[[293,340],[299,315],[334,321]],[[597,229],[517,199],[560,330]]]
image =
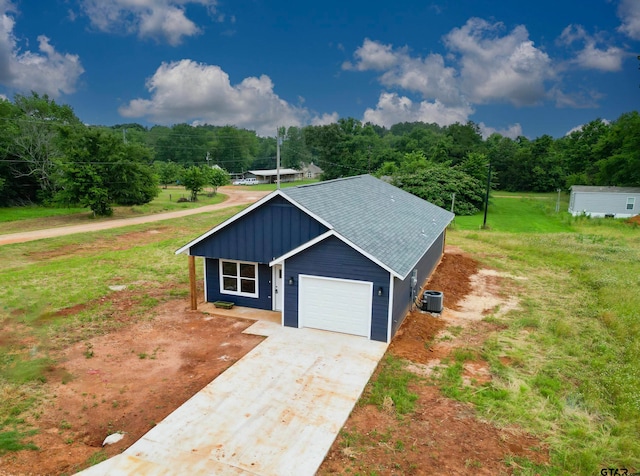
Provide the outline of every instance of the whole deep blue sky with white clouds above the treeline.
[[88,124],[560,137],[638,109],[638,54],[640,0],[0,0],[0,94]]

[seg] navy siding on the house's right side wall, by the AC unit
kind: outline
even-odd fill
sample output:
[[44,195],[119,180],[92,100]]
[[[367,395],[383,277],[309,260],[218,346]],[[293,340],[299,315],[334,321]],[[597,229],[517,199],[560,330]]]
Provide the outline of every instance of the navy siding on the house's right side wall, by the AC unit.
[[[431,276],[431,273],[435,270],[436,266],[440,262],[442,258],[442,254],[444,253],[444,245],[445,245],[445,231],[436,238],[431,247],[427,250],[427,252],[420,258],[418,264],[415,269],[418,270],[417,275],[417,284],[415,287],[415,292],[418,293],[422,289],[425,281]],[[412,305],[412,286],[411,286],[411,273],[404,279],[400,280],[396,277],[393,278],[393,313],[392,313],[392,321],[391,321],[391,336],[393,337],[405,316],[411,309]],[[419,298],[419,296],[415,296]]]

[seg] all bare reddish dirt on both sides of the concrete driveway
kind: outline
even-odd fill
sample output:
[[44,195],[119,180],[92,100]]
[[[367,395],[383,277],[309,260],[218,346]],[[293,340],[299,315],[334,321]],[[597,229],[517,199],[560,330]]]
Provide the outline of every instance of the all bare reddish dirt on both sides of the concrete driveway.
[[[496,330],[482,318],[517,306],[503,280],[449,247],[425,287],[444,292],[444,312],[412,312],[388,352],[428,376],[453,349],[482,343]],[[127,293],[112,298],[121,328],[53,356],[57,364],[45,385],[47,397],[31,422],[39,429],[32,439],[40,449],[2,456],[0,475],[69,474],[122,452],[262,339],[242,334],[250,321],[188,311],[184,299],[159,305],[153,318],[130,317],[133,296]],[[464,368],[469,385],[491,378],[479,358]],[[370,437],[363,443],[366,451],[349,451],[343,433],[319,474],[510,474],[507,455],[548,460],[539,441],[517,428],[478,420],[473,408],[444,397],[437,387],[416,382],[410,390],[419,396],[417,410],[402,421],[375,406],[357,406],[344,430]],[[102,448],[104,438],[117,431],[124,432],[123,440]],[[387,442],[380,442],[381,434]]]

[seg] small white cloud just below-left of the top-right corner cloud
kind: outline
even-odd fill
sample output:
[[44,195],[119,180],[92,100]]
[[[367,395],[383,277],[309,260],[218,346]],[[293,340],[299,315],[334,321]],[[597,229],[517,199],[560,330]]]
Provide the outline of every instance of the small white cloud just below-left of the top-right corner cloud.
[[566,45],[582,43],[582,50],[570,62],[582,69],[597,69],[600,71],[620,71],[622,69],[622,57],[625,52],[622,48],[608,46],[606,49],[598,48],[597,39],[587,34],[580,25],[569,25],[560,35],[560,41]]

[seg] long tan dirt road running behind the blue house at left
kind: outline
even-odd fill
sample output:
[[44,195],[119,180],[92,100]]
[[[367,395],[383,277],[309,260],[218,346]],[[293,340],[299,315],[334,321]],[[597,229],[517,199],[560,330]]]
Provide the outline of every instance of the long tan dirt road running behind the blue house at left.
[[85,225],[63,226],[59,228],[46,228],[43,230],[26,231],[23,233],[10,233],[0,235],[0,246],[10,243],[24,243],[26,241],[41,240],[43,238],[55,238],[57,236],[73,235],[75,233],[86,233],[88,231],[108,230],[111,228],[120,228],[123,226],[140,225],[143,223],[151,223],[154,221],[170,220],[172,218],[180,218],[196,213],[206,213],[223,208],[234,207],[237,205],[245,205],[253,203],[261,199],[269,192],[258,190],[238,189],[237,187],[222,187],[220,193],[224,193],[229,198],[222,203],[216,205],[207,205],[199,208],[190,208],[189,210],[180,210],[176,212],[158,213],[155,215],[146,215],[136,218],[123,218],[120,220],[103,221],[100,223],[87,223]]

